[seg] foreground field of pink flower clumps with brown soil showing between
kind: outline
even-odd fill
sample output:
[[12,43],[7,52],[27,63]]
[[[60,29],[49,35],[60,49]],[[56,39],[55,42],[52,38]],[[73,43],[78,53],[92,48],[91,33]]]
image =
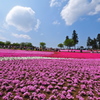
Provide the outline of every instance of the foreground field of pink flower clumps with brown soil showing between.
[[0,61],[0,100],[100,100],[100,59]]

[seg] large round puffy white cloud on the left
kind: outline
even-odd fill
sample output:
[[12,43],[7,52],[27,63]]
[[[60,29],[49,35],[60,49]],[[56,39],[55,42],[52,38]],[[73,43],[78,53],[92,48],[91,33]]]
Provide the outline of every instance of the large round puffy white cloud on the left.
[[15,6],[7,14],[6,22],[19,31],[29,32],[35,28],[38,20],[35,18],[35,12],[30,7]]

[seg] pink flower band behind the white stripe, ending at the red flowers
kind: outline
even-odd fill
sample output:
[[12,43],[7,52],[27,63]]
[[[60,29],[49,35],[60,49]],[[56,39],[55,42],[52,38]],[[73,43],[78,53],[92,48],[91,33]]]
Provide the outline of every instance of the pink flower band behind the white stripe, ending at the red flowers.
[[32,57],[32,56],[44,57],[44,56],[49,56],[51,54],[53,54],[53,52],[0,49],[0,57]]

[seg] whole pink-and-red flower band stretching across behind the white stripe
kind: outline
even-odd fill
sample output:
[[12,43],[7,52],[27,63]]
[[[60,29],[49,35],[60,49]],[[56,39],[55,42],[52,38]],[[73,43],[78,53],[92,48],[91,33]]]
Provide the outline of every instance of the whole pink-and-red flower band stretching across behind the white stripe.
[[47,52],[47,51],[0,49],[0,57],[57,57],[57,58],[100,59],[100,53]]

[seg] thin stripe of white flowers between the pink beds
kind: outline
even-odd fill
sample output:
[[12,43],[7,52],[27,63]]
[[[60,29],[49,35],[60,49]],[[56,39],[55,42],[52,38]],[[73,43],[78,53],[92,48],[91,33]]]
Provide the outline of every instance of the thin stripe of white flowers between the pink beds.
[[56,58],[56,57],[0,57],[3,60],[20,60],[20,59],[73,59],[73,58]]

